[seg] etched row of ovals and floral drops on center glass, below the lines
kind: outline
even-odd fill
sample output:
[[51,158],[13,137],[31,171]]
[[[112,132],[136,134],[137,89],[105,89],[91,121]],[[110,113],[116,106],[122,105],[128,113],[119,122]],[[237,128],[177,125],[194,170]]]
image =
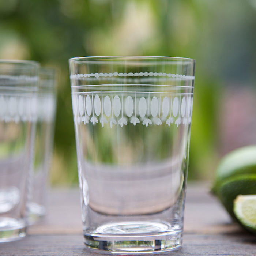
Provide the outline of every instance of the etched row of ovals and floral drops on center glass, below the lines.
[[192,93],[90,91],[72,94],[74,119],[79,125],[188,125]]

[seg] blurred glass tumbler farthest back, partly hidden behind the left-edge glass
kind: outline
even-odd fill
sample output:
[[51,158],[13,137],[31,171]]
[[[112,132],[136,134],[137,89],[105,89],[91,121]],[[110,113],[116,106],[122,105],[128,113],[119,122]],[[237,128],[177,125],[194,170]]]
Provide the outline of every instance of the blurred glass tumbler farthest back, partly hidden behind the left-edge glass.
[[32,189],[29,202],[29,224],[41,220],[46,214],[46,186],[52,159],[53,135],[56,112],[56,71],[39,69],[37,122],[32,172]]

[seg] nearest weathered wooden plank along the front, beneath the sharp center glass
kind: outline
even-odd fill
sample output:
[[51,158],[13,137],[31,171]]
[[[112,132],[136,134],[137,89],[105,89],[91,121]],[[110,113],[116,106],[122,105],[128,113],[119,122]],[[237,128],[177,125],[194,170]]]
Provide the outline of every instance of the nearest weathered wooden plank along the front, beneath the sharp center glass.
[[[101,253],[91,252],[83,245],[80,235],[33,235],[23,240],[0,245],[1,256],[95,256]],[[161,255],[256,255],[255,237],[244,234],[184,234],[184,243],[180,249]],[[104,254],[105,255],[105,254]],[[110,255],[110,254],[107,254]],[[113,255],[113,254],[111,254]],[[157,254],[159,255],[159,254]]]

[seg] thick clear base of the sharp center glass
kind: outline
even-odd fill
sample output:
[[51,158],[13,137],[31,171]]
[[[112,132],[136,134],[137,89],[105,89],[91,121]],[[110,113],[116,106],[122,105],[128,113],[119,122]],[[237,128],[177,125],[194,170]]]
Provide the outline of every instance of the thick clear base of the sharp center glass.
[[84,232],[84,244],[90,249],[111,253],[138,254],[177,249],[182,229],[159,222],[117,222],[102,225],[94,233]]

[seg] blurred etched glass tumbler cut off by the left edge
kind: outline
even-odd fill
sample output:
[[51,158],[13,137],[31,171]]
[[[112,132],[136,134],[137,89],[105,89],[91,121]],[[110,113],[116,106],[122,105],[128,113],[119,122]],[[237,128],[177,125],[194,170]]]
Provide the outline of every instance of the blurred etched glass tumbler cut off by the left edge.
[[0,60],[0,242],[26,236],[39,64]]

